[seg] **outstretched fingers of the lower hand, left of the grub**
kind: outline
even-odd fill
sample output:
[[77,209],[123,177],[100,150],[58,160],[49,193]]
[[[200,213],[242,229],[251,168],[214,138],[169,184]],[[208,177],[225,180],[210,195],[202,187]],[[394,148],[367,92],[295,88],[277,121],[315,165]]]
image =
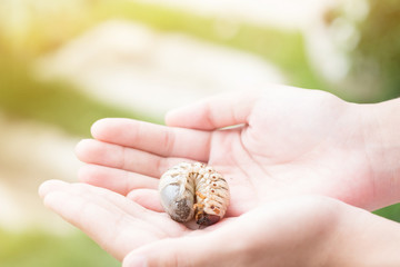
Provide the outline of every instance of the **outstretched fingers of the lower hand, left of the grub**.
[[132,249],[187,230],[166,214],[149,211],[102,188],[48,181],[39,191],[47,207],[83,230],[119,260]]

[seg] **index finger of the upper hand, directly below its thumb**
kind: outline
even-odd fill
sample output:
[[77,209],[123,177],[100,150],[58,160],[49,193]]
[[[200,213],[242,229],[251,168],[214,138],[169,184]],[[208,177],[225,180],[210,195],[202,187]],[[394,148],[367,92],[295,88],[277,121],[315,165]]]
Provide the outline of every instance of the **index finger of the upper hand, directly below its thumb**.
[[117,144],[162,157],[208,161],[210,132],[172,128],[131,119],[101,119],[91,128],[101,141]]

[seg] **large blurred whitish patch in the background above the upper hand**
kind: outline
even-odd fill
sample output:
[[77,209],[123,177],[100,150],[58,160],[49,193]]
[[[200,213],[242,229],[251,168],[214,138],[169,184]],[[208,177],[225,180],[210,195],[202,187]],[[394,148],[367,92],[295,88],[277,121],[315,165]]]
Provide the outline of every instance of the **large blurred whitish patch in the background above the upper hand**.
[[117,20],[43,58],[39,71],[42,78],[73,81],[106,102],[158,117],[218,92],[284,82],[277,68],[252,55]]

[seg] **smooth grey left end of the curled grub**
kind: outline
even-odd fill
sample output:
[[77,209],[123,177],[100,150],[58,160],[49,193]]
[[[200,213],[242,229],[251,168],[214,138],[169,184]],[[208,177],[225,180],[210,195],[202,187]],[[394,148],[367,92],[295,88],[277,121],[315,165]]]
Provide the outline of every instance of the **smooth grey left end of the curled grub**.
[[161,205],[173,220],[184,222],[193,217],[194,198],[190,195],[180,196],[180,186],[170,184],[160,191]]

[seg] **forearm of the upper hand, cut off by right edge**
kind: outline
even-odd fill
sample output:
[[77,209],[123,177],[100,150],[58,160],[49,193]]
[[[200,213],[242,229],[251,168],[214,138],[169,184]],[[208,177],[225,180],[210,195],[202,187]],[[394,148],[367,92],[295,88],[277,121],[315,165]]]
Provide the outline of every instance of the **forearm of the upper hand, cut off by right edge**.
[[400,99],[359,105],[377,207],[400,201]]

